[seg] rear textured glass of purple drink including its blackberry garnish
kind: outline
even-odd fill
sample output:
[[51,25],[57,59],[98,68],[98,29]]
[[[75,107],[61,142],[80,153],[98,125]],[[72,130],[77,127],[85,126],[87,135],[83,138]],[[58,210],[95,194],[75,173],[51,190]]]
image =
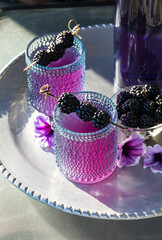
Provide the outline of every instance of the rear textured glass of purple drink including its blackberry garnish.
[[61,35],[61,40],[58,38],[60,34],[37,37],[26,50],[26,65],[31,66],[27,69],[30,102],[36,110],[49,117],[53,115],[57,100],[44,100],[39,94],[42,85],[49,84],[51,93],[56,96],[67,91],[73,93],[85,90],[84,46],[75,36],[72,36],[72,41],[69,38],[68,41],[62,41],[66,33]]

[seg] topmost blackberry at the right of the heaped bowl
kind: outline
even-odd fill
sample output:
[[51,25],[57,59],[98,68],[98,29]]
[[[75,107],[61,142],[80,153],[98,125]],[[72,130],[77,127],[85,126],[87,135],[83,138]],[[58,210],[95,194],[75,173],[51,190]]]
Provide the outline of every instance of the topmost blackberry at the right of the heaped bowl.
[[157,95],[159,95],[160,92],[161,92],[161,89],[160,89],[159,85],[156,84],[156,83],[154,83],[154,84],[146,84],[143,87],[143,90],[147,94],[147,97],[152,99],[152,100],[155,100]]

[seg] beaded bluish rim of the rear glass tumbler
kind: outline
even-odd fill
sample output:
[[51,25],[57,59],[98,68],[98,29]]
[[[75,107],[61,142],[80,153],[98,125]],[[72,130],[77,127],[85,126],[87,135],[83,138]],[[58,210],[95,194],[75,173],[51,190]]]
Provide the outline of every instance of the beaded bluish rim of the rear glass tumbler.
[[[35,38],[33,38],[27,45],[26,47],[26,50],[25,50],[25,55],[26,57],[28,58],[30,64],[33,63],[33,60],[31,59],[31,57],[29,57],[29,48],[30,46],[39,38],[42,38],[44,36],[49,36],[49,35],[56,35],[57,36],[57,32],[51,32],[51,33],[45,33],[45,34],[42,34],[42,35],[39,35]],[[85,48],[84,48],[84,44],[81,40],[79,40],[79,38],[75,37],[74,36],[74,39],[77,40],[80,44],[81,44],[81,49],[82,49],[82,52],[80,53],[80,55],[77,57],[77,59],[70,63],[70,64],[67,64],[67,65],[64,65],[64,66],[61,66],[61,67],[47,67],[47,66],[42,66],[42,65],[39,65],[39,64],[34,64],[33,66],[31,66],[31,68],[34,68],[34,67],[37,67],[37,68],[40,68],[40,69],[48,69],[48,70],[60,70],[60,69],[65,69],[65,68],[68,68],[68,67],[71,67],[73,65],[75,65],[78,61],[80,61],[80,59],[84,56],[84,53],[85,53]],[[70,48],[69,48],[70,49]],[[29,65],[30,65],[29,64]]]

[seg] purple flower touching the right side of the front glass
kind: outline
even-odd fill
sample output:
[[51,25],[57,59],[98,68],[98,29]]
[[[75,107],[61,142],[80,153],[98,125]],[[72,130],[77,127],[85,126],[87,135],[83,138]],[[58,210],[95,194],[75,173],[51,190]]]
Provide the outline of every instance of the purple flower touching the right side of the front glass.
[[141,156],[145,153],[146,146],[144,137],[132,133],[128,138],[118,145],[118,167],[135,166],[139,163]]

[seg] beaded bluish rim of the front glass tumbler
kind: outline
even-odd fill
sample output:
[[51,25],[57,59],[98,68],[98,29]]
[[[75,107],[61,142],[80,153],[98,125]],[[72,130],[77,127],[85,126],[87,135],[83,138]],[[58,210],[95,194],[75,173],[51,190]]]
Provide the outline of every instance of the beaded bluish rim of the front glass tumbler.
[[[73,93],[73,95],[77,95],[77,94],[84,94],[84,93],[90,93],[90,94],[97,94],[97,95],[100,95],[100,96],[103,96],[105,98],[107,98],[108,100],[111,101],[111,104],[115,110],[115,116],[114,118],[116,119],[115,123],[117,122],[117,110],[116,110],[116,107],[115,107],[115,104],[114,102],[111,100],[111,98],[108,98],[107,96],[105,96],[104,94],[101,94],[101,93],[98,93],[98,92],[93,92],[93,91],[81,91],[81,92],[75,92]],[[58,105],[56,104],[55,108],[54,108],[54,113],[53,113],[53,119],[54,119],[54,126],[55,126],[55,123],[57,124],[57,126],[63,131],[63,132],[66,132],[70,135],[75,135],[75,136],[78,136],[78,137],[85,137],[85,136],[96,136],[96,135],[102,135],[104,133],[106,133],[107,131],[109,131],[110,133],[115,129],[115,126],[113,124],[108,124],[106,127],[102,128],[102,129],[99,129],[98,131],[95,131],[95,132],[90,132],[90,133],[79,133],[79,132],[74,132],[74,131],[71,131],[65,127],[63,127],[59,122],[58,122],[58,119],[56,117],[56,113],[57,113],[57,110],[58,110]],[[114,121],[114,119],[113,119]]]

